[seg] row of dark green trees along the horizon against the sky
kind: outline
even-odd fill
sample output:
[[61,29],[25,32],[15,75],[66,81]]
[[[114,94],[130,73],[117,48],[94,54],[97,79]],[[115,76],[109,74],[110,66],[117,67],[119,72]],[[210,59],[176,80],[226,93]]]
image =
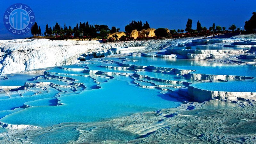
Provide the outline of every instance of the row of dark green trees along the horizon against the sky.
[[[165,28],[158,28],[156,30],[156,35],[160,36],[166,36],[168,33],[171,35],[174,34],[179,34],[179,33],[184,33],[185,31],[188,33],[215,33],[215,32],[221,32],[225,31],[226,27],[221,27],[220,25],[215,26],[215,23],[212,24],[211,27],[206,28],[202,27],[201,23],[199,20],[196,23],[196,29],[192,29],[192,19],[188,19],[186,28],[184,29],[171,29],[170,31],[167,31]],[[127,24],[124,28],[125,32],[130,35],[132,30],[139,30],[141,31],[142,29],[148,29],[150,28],[148,21],[143,23],[142,21],[136,21],[132,20]],[[240,31],[240,28],[237,28],[235,24],[232,24],[228,28],[231,31]],[[250,20],[245,21],[244,29],[248,32],[255,32],[256,31],[256,12],[252,13],[252,17]],[[112,27],[111,29],[108,28],[107,25],[92,25],[87,22],[80,22],[79,24],[76,23],[76,26],[74,28],[71,28],[71,26],[66,26],[66,23],[64,23],[64,28],[60,26],[60,24],[57,22],[54,26],[48,26],[46,24],[45,26],[45,31],[44,31],[44,36],[70,36],[70,37],[97,37],[100,36],[104,38],[105,36],[108,36],[110,33],[115,33],[119,32],[120,28]],[[165,32],[166,31],[166,32]],[[41,27],[35,24],[31,28],[31,33],[33,36],[43,36]]]

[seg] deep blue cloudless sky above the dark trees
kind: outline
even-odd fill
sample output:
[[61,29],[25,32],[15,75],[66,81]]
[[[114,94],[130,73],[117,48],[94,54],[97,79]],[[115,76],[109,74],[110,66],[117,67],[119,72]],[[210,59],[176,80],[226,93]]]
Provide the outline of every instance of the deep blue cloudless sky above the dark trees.
[[[88,21],[89,24],[104,24],[109,28],[116,26],[124,31],[131,20],[148,21],[151,28],[185,29],[188,18],[193,20],[192,28],[196,28],[199,20],[202,26],[209,28],[215,25],[228,27],[235,24],[244,27],[252,12],[256,12],[256,0],[77,0],[77,1],[31,1],[12,0],[0,5],[4,15],[12,4],[27,4],[35,13],[36,22],[44,33],[45,25],[58,22],[72,28],[76,23]],[[3,20],[3,18],[2,18]],[[31,34],[12,35],[0,21],[0,39],[16,39]]]

